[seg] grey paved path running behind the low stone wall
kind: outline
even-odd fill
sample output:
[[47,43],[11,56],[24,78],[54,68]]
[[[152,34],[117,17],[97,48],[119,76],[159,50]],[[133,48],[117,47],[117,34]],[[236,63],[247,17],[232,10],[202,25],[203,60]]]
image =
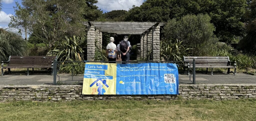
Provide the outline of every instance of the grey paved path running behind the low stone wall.
[[[71,83],[72,76],[60,74],[59,83]],[[73,76],[73,82],[82,83],[83,75]],[[191,76],[191,80],[193,77]],[[20,74],[9,74],[0,76],[0,85],[46,85],[53,83],[53,76],[47,74],[31,74],[29,76]],[[189,76],[179,74],[179,83],[192,83]],[[202,74],[196,73],[197,84],[256,84],[256,76],[245,73],[230,75],[225,73]]]

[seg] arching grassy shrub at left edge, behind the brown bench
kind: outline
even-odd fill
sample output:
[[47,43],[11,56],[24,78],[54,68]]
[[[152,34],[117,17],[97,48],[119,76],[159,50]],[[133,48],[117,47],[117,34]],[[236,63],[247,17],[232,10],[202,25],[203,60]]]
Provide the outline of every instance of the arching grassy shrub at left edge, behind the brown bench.
[[27,49],[27,42],[17,33],[0,28],[0,61],[7,61],[9,56],[22,56]]

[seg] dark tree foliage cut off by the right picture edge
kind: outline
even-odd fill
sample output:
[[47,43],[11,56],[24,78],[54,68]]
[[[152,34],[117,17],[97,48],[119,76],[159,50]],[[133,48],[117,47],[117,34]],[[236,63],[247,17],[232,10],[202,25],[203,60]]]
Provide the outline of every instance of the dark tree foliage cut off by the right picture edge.
[[256,0],[250,2],[246,17],[248,19],[246,22],[247,35],[239,42],[239,49],[256,54]]

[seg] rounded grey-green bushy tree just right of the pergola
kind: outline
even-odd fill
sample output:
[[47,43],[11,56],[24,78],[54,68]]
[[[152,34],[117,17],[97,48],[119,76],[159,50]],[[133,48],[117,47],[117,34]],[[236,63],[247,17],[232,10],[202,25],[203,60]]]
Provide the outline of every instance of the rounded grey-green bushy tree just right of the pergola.
[[167,40],[175,38],[183,41],[182,44],[193,48],[191,52],[195,56],[213,55],[217,38],[210,20],[207,14],[186,15],[179,20],[169,20],[163,30],[164,36]]

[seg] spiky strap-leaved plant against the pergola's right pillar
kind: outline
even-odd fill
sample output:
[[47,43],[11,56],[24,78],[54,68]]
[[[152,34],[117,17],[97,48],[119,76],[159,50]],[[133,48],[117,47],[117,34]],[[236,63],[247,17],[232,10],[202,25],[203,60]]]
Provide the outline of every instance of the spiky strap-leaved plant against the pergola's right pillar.
[[178,39],[163,40],[160,42],[160,57],[163,61],[182,61],[183,56],[190,56],[191,48],[182,45]]

